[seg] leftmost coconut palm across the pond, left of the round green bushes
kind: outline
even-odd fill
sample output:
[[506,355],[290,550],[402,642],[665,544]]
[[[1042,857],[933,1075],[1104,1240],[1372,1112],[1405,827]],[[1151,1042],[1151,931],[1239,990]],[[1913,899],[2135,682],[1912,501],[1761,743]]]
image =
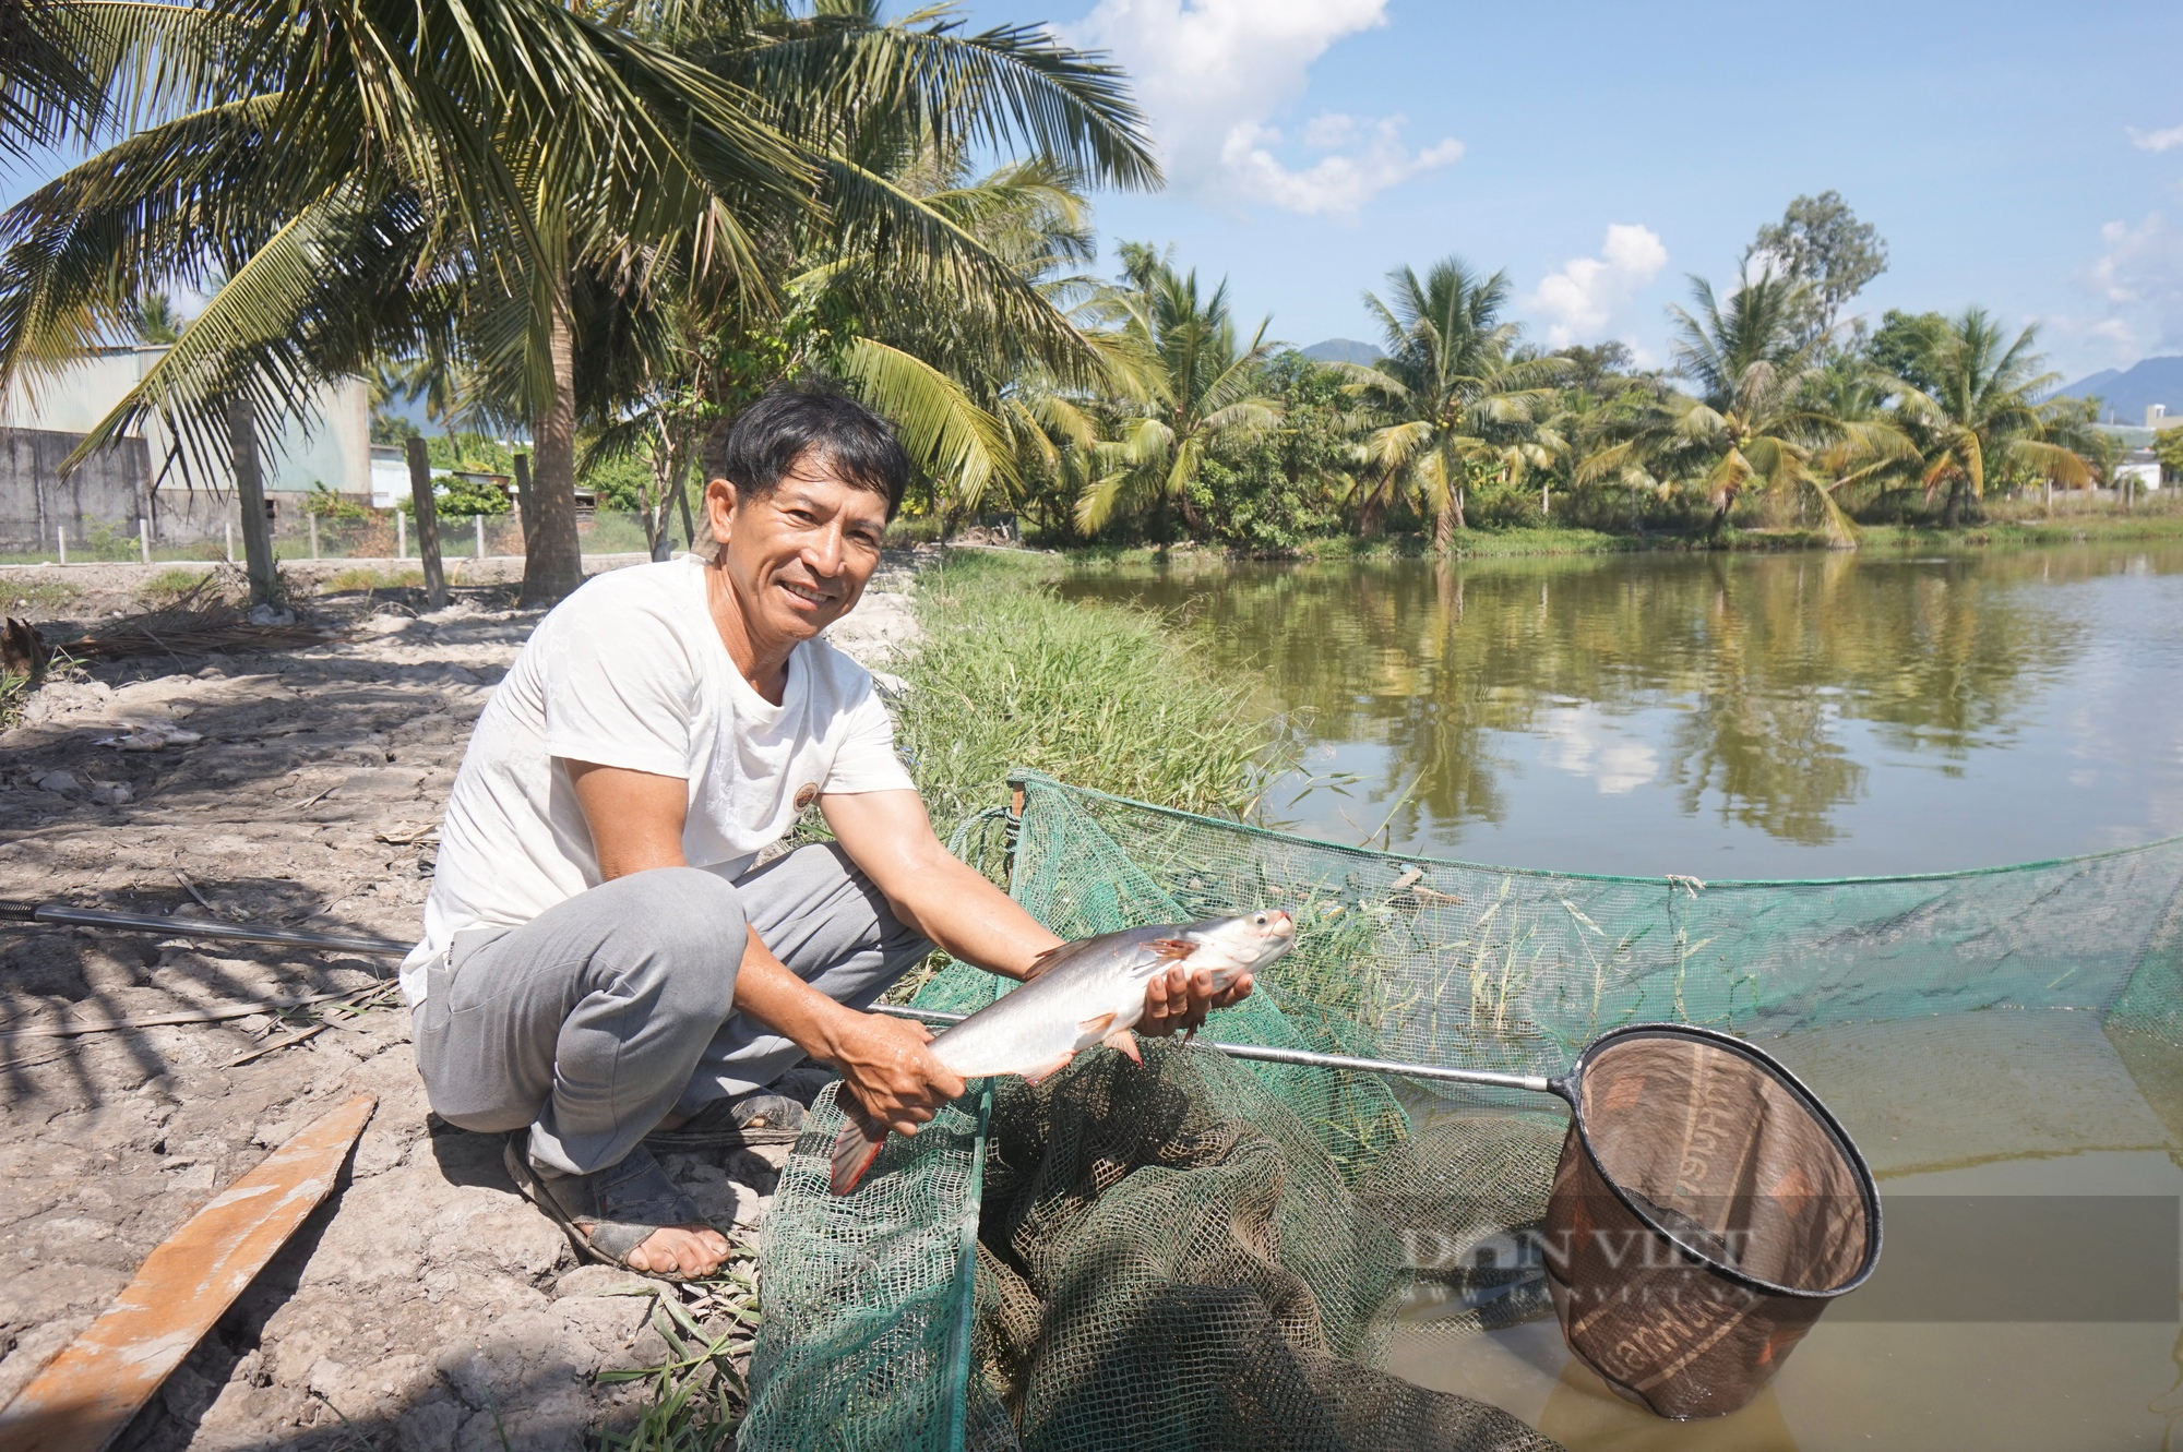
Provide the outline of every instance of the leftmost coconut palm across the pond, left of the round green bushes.
[[1094,534],[1122,515],[1174,506],[1196,534],[1205,519],[1190,486],[1205,458],[1281,421],[1279,403],[1260,395],[1273,355],[1266,320],[1244,340],[1227,281],[1205,297],[1196,270],[1177,273],[1142,242],[1122,244],[1122,270],[1126,286],[1105,301],[1120,320],[1120,351],[1142,360],[1144,397],[1124,401],[1116,436],[1096,445],[1076,528]]

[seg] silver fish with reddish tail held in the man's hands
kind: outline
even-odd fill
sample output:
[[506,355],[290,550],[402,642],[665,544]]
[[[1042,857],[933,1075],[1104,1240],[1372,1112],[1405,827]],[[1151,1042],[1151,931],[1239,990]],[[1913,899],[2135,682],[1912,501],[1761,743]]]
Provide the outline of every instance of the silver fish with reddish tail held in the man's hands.
[[[1022,988],[939,1033],[928,1049],[965,1079],[1024,1075],[1033,1084],[1092,1044],[1135,1060],[1131,1029],[1144,1016],[1144,992],[1155,975],[1205,968],[1214,992],[1222,992],[1288,953],[1295,940],[1297,924],[1284,911],[1078,937],[1048,951]],[[886,1142],[886,1125],[869,1118],[854,1097],[843,1094],[840,1108],[849,1123],[834,1140],[834,1195],[854,1190]]]

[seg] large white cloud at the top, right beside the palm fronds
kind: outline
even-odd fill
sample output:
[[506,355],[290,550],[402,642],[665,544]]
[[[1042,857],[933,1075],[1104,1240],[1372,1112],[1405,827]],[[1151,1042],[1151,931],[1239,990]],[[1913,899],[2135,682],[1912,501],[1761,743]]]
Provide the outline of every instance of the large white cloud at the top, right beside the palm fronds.
[[1072,39],[1102,46],[1129,70],[1153,118],[1168,185],[1216,203],[1353,214],[1380,192],[1456,161],[1463,144],[1421,150],[1401,118],[1321,113],[1284,159],[1273,116],[1297,100],[1334,41],[1386,24],[1386,0],[1100,0]]

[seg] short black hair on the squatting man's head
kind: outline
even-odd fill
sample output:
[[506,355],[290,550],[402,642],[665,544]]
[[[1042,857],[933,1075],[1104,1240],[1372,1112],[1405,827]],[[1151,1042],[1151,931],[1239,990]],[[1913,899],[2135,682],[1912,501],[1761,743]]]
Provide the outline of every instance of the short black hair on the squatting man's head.
[[886,517],[910,486],[910,456],[880,414],[832,388],[773,388],[714,425],[705,438],[705,482],[727,480],[738,499],[764,499],[812,449],[845,484],[886,497]]

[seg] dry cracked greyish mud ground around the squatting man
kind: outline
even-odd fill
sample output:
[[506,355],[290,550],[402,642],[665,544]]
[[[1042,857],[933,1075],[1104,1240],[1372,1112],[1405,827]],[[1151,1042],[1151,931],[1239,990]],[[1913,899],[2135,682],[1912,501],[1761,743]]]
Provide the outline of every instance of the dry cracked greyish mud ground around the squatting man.
[[[105,567],[92,604],[127,593],[129,569]],[[11,606],[24,576],[0,571]],[[871,665],[915,639],[904,580],[882,576],[836,626]],[[83,593],[70,604],[44,615],[85,613]],[[314,617],[351,634],[299,652],[124,661],[31,698],[0,735],[0,896],[415,937],[428,828],[537,613],[478,593],[430,615],[327,600]],[[199,741],[96,746],[157,724]],[[247,1064],[231,1060],[284,1025],[20,1033],[369,990],[391,972],[338,953],[0,931],[0,1404],[269,1147],[369,1090],[378,1112],[334,1195],[116,1448],[491,1452],[504,1439],[544,1452],[637,1413],[644,1384],[598,1374],[668,1358],[651,1330],[655,1282],[578,1265],[515,1195],[498,1136],[428,1121],[399,1001]],[[784,1153],[666,1162],[751,1241]]]

